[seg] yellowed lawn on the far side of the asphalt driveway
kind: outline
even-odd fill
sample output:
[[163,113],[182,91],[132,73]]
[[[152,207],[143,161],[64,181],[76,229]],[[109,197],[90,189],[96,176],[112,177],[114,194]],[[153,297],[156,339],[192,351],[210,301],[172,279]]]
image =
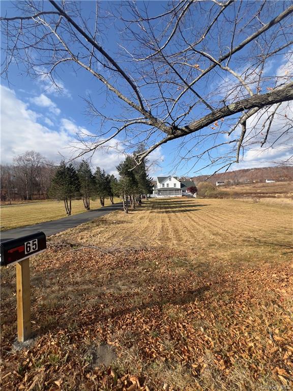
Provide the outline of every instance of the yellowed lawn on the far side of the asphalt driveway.
[[[114,203],[119,202],[115,199]],[[105,206],[110,200],[105,200]],[[91,201],[91,209],[101,208],[99,200]],[[72,214],[85,212],[82,200],[72,201]],[[63,201],[36,202],[0,207],[1,231],[13,228],[32,226],[43,221],[66,217]]]

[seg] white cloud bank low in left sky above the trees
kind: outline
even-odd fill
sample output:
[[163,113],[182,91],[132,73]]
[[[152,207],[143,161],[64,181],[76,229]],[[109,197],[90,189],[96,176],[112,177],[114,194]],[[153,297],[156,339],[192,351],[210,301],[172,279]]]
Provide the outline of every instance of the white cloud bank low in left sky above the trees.
[[[12,163],[13,157],[25,151],[35,150],[47,159],[59,162],[62,156],[71,158],[77,155],[77,150],[69,148],[75,145],[81,148],[74,133],[85,128],[76,125],[73,121],[62,119],[58,129],[51,130],[38,121],[42,115],[30,110],[28,104],[17,98],[15,92],[1,86],[1,161]],[[48,121],[46,121],[48,120]],[[44,119],[50,126],[52,122]],[[87,132],[90,133],[90,132]],[[62,154],[62,156],[61,156]],[[124,159],[123,147],[117,139],[112,139],[106,149],[96,151],[91,157],[93,169],[102,167],[110,174],[117,174],[116,166]],[[86,154],[84,158],[90,158]]]

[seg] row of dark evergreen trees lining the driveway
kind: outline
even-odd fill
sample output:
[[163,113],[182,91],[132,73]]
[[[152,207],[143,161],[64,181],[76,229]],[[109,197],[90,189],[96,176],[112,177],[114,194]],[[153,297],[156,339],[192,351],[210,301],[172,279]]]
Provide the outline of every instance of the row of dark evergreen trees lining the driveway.
[[89,163],[82,160],[77,170],[72,164],[63,161],[57,168],[49,190],[50,198],[62,200],[66,214],[71,214],[73,199],[82,198],[84,208],[90,210],[90,200],[100,199],[101,206],[105,198],[114,203],[114,197],[123,199],[123,209],[128,213],[129,204],[132,208],[141,204],[142,194],[152,192],[151,178],[147,174],[144,162],[134,165],[134,158],[126,159],[117,166],[120,179],[105,173],[97,167],[93,174]]

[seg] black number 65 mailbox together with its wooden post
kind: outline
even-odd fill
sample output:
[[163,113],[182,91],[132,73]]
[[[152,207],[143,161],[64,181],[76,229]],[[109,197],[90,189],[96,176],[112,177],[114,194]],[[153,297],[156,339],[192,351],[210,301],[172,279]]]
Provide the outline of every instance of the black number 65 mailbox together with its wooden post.
[[17,339],[24,342],[31,337],[30,258],[47,247],[43,232],[22,236],[1,243],[1,266],[16,263]]

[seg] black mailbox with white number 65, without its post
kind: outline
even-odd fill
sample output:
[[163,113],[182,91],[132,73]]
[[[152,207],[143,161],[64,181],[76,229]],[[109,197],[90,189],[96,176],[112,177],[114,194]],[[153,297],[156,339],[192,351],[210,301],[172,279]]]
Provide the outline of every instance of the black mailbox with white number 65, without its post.
[[25,258],[42,253],[47,248],[46,235],[37,232],[1,243],[0,266],[11,265]]

